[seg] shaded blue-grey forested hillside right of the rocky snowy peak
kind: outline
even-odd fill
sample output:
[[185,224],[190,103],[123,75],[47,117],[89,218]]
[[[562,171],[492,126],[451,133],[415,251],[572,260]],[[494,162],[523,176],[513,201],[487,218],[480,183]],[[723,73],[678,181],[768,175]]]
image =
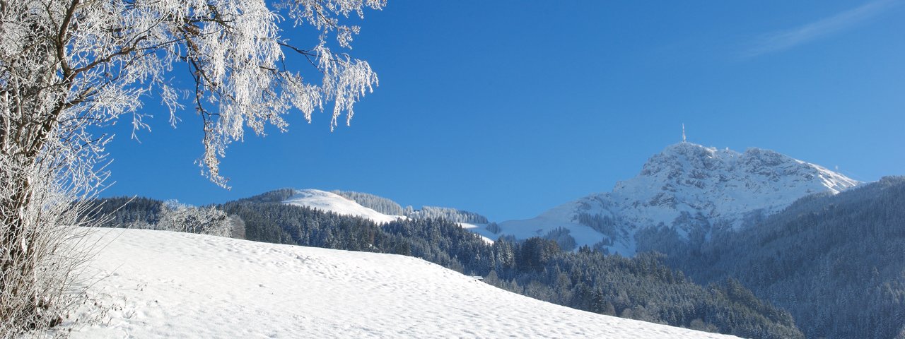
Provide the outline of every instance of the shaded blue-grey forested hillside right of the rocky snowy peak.
[[738,278],[810,338],[905,337],[905,177],[801,199],[666,261],[701,283]]

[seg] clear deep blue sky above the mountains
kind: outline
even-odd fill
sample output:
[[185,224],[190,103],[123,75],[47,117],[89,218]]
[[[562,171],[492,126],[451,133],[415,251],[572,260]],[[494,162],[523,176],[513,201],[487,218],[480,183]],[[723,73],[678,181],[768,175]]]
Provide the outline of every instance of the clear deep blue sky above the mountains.
[[351,127],[297,114],[288,133],[246,137],[224,159],[226,191],[198,175],[193,112],[176,129],[157,113],[140,143],[122,121],[102,195],[341,189],[524,219],[610,191],[681,141],[682,123],[704,146],[769,148],[863,181],[905,174],[901,0],[390,0],[361,25],[351,53],[380,86]]

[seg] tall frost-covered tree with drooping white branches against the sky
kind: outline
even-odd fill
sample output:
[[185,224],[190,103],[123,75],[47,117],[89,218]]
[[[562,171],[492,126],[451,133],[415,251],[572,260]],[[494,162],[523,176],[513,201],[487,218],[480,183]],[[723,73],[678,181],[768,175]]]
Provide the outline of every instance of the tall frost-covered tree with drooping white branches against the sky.
[[[287,127],[298,109],[330,128],[376,86],[366,61],[334,52],[359,28],[349,16],[386,0],[0,0],[0,294],[45,304],[34,244],[62,223],[71,202],[106,176],[105,127],[124,115],[133,137],[149,129],[145,99],[159,99],[176,125],[188,107],[201,118],[202,173],[226,185],[219,165],[245,130]],[[310,43],[283,26],[310,27]],[[288,60],[297,55],[300,62]],[[297,66],[297,67],[296,67]],[[307,68],[307,69],[306,69]],[[192,81],[174,86],[175,77]],[[57,194],[57,195],[53,195]],[[59,239],[51,237],[50,239]],[[24,259],[23,259],[24,258]],[[23,260],[20,260],[23,259]],[[30,261],[31,260],[31,261]],[[35,305],[31,308],[34,309]],[[28,313],[30,311],[26,311]],[[34,313],[34,312],[32,312]],[[11,315],[0,310],[0,322]],[[30,325],[34,326],[34,325]]]

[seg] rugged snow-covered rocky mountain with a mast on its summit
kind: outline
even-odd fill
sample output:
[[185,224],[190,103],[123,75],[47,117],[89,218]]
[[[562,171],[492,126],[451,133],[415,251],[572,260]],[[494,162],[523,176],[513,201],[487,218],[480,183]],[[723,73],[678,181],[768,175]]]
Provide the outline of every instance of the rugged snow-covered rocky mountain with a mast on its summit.
[[635,234],[672,229],[702,241],[712,231],[738,230],[812,193],[839,193],[861,184],[843,174],[774,151],[744,153],[691,143],[667,146],[640,174],[610,193],[567,202],[529,220],[500,223],[517,238],[544,236],[562,227],[576,244],[633,255]]

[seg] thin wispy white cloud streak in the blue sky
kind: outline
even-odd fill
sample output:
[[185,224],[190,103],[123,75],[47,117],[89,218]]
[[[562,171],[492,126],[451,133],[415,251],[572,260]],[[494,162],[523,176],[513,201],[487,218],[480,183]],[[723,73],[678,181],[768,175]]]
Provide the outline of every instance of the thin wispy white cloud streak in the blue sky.
[[867,22],[877,17],[878,14],[883,13],[883,11],[900,4],[901,2],[898,0],[872,1],[811,24],[805,24],[791,30],[767,33],[752,42],[748,50],[743,52],[743,56],[752,58],[770,52],[779,52],[833,33],[839,33],[857,24]]

